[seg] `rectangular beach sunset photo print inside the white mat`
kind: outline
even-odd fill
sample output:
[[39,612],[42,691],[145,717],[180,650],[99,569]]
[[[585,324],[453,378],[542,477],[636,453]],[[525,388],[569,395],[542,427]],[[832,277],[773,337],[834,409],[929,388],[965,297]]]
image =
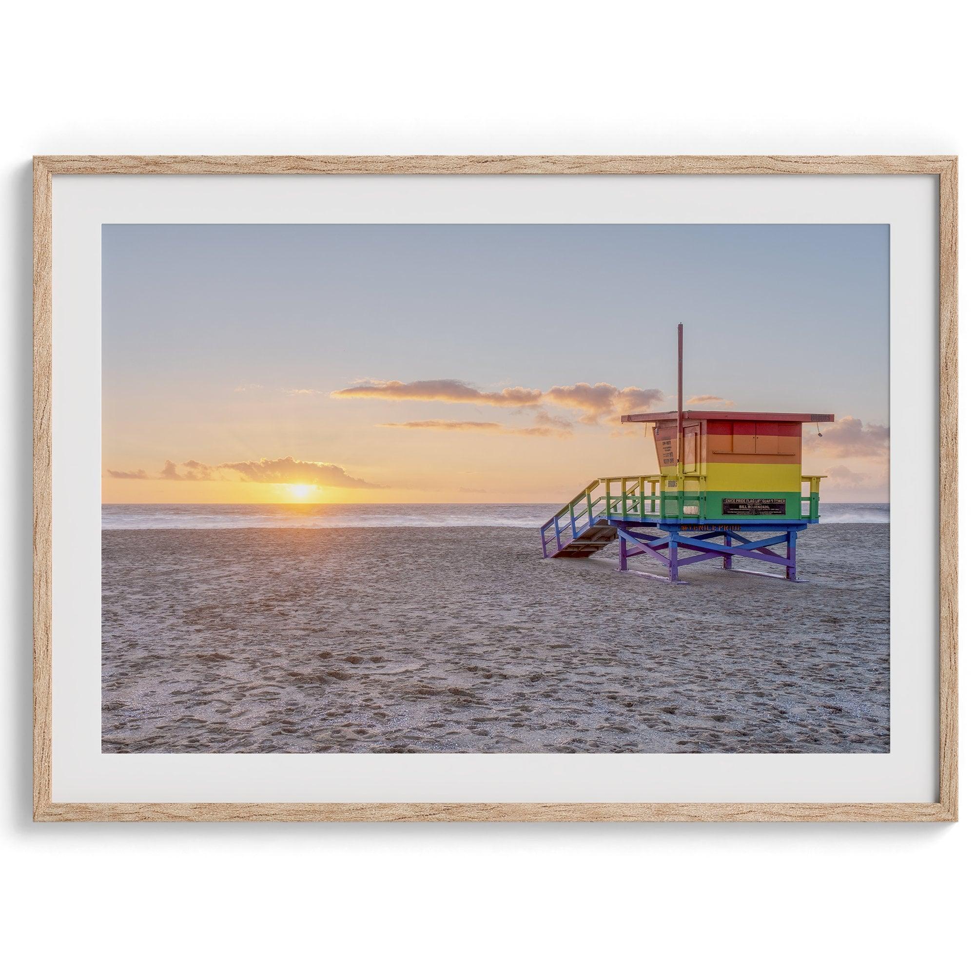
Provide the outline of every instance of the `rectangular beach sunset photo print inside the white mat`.
[[102,752],[888,752],[888,277],[880,224],[104,224]]

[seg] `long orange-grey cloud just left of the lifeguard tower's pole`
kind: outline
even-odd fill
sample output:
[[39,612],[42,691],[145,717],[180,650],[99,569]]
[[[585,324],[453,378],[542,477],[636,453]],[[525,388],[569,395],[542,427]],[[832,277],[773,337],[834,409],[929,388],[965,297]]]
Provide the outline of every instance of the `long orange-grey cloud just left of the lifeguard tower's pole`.
[[[419,400],[427,403],[474,403],[489,407],[530,407],[550,403],[564,409],[580,410],[583,423],[598,423],[614,413],[647,409],[664,399],[659,389],[641,389],[639,386],[620,389],[608,382],[595,385],[577,382],[572,386],[553,386],[545,392],[511,386],[499,393],[486,393],[456,379],[420,379],[415,382],[370,380],[348,389],[336,389],[331,395],[339,399]],[[563,422],[552,425],[563,425]]]

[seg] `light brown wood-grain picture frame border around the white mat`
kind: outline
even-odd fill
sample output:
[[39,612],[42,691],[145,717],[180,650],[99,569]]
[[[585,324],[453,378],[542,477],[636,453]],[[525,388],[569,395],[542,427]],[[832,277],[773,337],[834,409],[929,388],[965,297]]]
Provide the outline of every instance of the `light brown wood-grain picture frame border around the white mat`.
[[[940,796],[937,802],[55,802],[52,799],[52,178],[60,175],[937,176]],[[957,783],[955,156],[38,156],[34,158],[34,796],[37,821],[954,821]]]

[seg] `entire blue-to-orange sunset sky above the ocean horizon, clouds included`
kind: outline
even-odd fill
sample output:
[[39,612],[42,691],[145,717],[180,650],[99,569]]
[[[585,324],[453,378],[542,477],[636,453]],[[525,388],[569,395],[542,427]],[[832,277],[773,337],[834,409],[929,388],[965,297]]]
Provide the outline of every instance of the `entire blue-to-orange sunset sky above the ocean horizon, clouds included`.
[[886,244],[871,225],[106,225],[102,499],[563,503],[656,473],[619,415],[675,409],[682,317],[690,409],[836,413],[803,471],[824,500],[886,500]]

